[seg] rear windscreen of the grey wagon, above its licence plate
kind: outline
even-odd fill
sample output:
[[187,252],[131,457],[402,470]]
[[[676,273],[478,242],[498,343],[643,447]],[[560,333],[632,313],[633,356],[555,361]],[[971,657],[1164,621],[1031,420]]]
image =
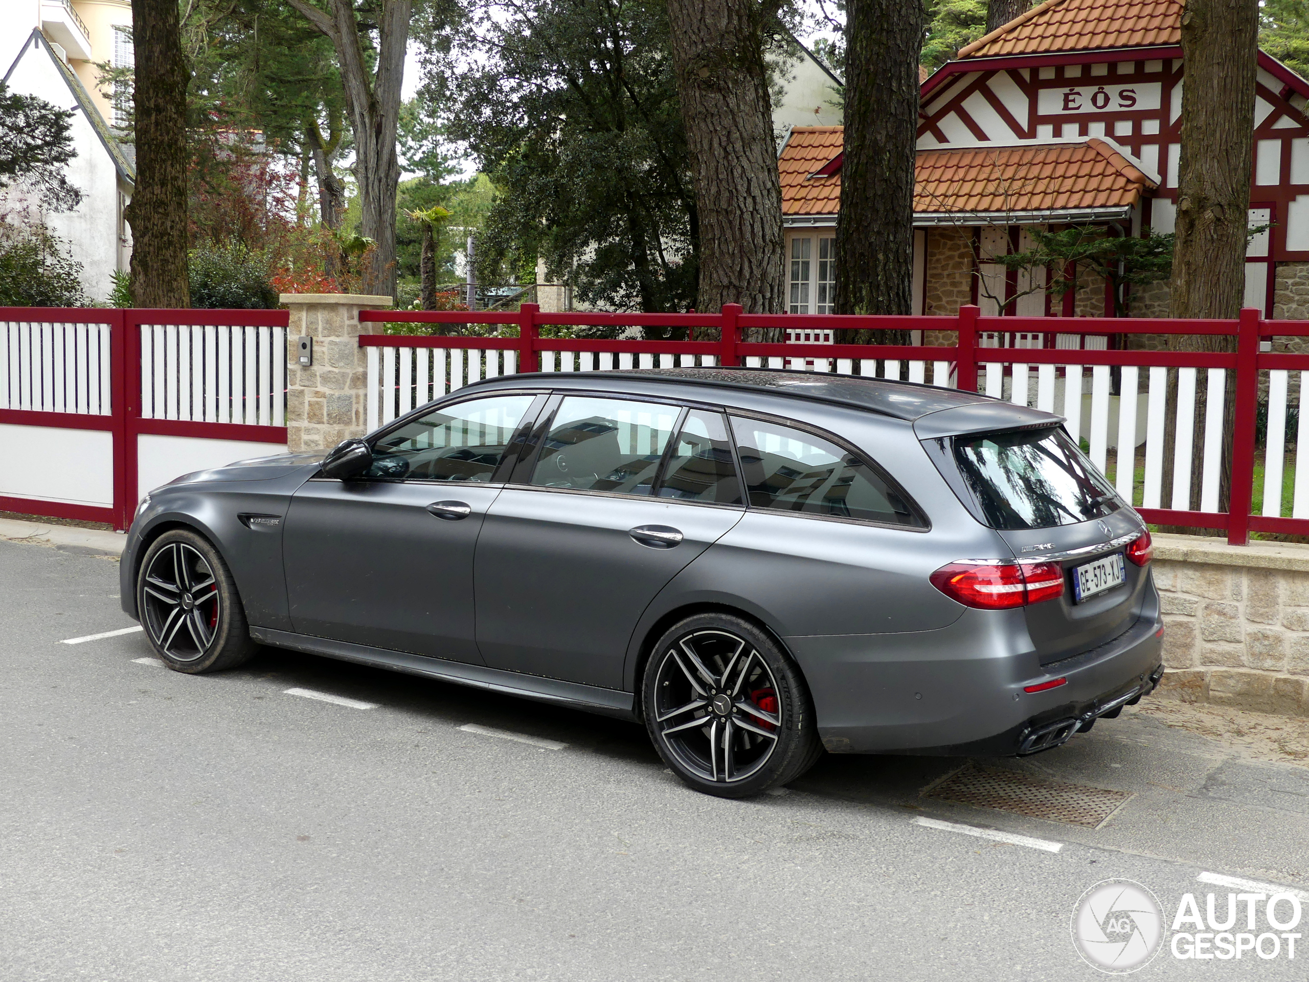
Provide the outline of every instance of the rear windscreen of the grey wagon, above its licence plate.
[[1123,507],[1063,429],[954,437],[954,457],[996,529],[1049,529]]

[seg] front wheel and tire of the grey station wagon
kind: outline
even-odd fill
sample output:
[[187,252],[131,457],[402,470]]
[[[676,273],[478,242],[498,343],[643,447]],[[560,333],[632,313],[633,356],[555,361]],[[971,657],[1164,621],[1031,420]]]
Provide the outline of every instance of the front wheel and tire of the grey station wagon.
[[136,611],[154,653],[174,672],[223,672],[258,649],[226,563],[187,529],[165,532],[145,550]]

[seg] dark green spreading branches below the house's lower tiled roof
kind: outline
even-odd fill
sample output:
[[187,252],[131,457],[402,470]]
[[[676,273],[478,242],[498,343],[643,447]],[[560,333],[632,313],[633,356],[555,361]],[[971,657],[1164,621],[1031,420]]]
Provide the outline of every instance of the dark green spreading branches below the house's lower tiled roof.
[[[1079,275],[1089,272],[1109,280],[1114,296],[1114,314],[1124,317],[1130,304],[1130,287],[1166,280],[1173,271],[1173,245],[1175,236],[1156,234],[1143,229],[1138,238],[1117,225],[1073,225],[1060,232],[1026,229],[1031,249],[1008,255],[979,257],[1008,270],[1033,271],[1049,268],[1050,285],[1046,292],[1062,297],[1076,289]],[[1041,288],[1026,291],[1037,292]]]

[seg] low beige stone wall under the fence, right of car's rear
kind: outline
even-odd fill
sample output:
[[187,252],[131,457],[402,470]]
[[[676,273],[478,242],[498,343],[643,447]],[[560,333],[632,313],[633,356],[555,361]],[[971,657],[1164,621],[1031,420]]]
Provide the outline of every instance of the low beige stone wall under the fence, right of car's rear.
[[1155,537],[1161,698],[1309,716],[1309,546]]

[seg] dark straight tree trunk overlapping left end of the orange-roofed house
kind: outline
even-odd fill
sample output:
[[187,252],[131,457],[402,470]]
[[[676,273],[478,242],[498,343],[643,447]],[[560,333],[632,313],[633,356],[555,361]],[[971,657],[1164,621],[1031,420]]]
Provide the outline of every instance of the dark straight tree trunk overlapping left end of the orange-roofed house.
[[[846,147],[836,227],[836,313],[912,313],[914,158],[923,7],[846,5]],[[863,333],[861,333],[863,334]],[[907,343],[907,331],[869,331]]]

